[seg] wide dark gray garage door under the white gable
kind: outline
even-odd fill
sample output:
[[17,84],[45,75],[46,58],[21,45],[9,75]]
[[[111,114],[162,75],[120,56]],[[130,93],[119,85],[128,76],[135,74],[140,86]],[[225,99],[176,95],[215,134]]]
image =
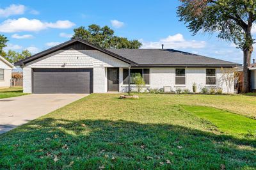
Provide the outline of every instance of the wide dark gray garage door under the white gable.
[[33,93],[92,91],[92,68],[33,68]]

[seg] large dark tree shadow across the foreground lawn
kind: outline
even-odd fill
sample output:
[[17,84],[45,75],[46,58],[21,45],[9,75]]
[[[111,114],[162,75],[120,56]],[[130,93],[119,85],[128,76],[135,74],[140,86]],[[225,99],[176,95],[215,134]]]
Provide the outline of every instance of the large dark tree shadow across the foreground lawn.
[[241,169],[256,167],[255,147],[177,125],[45,118],[0,135],[0,169]]

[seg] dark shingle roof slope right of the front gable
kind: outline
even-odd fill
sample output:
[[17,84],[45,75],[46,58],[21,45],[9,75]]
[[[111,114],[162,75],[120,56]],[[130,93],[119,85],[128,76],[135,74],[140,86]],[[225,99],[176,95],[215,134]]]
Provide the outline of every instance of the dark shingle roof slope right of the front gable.
[[237,66],[239,64],[172,49],[107,49],[139,65]]

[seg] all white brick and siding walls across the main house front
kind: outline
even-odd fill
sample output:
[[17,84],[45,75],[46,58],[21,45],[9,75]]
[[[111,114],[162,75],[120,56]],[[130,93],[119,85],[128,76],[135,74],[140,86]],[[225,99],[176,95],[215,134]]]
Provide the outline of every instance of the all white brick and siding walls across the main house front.
[[[107,68],[118,67],[119,69],[119,91],[128,90],[127,85],[123,84],[123,68],[129,65],[119,59],[113,58],[98,50],[59,50],[43,58],[31,61],[23,68],[23,86],[25,93],[31,93],[32,80],[31,68],[93,68],[93,93],[106,93],[107,89]],[[217,79],[221,77],[220,68],[216,68]],[[186,68],[185,86],[175,85],[175,68],[150,68],[150,84],[147,84],[143,90],[163,89],[164,86],[170,86],[173,91],[178,88],[189,89],[193,91],[193,82],[196,82],[197,91],[207,86],[206,68]],[[211,88],[212,86],[207,86]],[[225,83],[221,84],[223,93],[227,93]],[[234,86],[231,92],[234,93]],[[132,89],[136,90],[134,85]]]

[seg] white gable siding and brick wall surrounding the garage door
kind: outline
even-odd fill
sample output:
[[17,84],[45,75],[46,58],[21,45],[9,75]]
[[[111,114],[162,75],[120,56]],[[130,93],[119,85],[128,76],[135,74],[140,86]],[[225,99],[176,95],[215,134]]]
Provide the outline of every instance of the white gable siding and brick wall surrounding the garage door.
[[58,50],[26,64],[23,68],[24,92],[32,92],[31,68],[93,68],[93,93],[104,93],[107,92],[106,67],[128,66],[99,50]]

